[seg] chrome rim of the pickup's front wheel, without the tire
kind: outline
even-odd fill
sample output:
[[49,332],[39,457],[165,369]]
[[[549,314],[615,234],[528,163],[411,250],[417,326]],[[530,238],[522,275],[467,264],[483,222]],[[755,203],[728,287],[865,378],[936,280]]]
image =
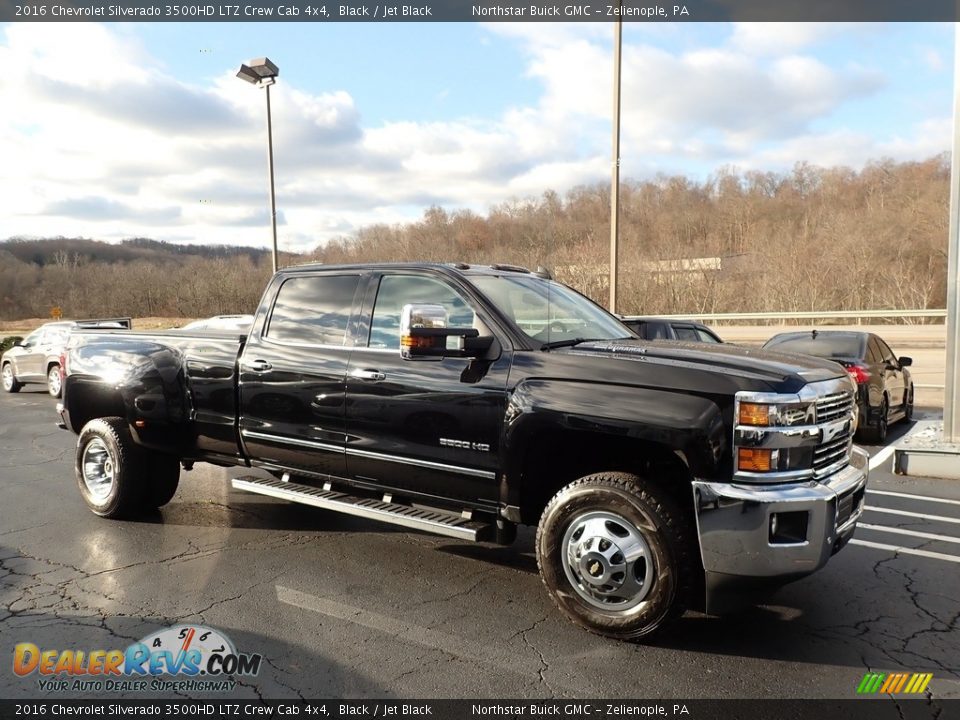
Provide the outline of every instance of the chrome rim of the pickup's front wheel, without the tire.
[[637,527],[617,513],[574,518],[563,536],[563,571],[577,595],[603,610],[629,610],[653,587],[653,553]]

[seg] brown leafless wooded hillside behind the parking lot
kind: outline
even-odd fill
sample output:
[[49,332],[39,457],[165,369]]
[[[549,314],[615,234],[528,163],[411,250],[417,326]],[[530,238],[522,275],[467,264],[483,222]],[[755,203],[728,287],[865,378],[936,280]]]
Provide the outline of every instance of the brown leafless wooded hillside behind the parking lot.
[[[721,170],[704,183],[625,182],[618,310],[943,307],[948,186],[947,155],[859,172],[801,163],[786,174]],[[609,207],[609,186],[594,185],[486,217],[431,208],[281,262],[542,265],[606,304]],[[68,317],[251,312],[269,275],[269,254],[248,248],[11,240],[0,243],[0,318],[44,317],[55,305]]]

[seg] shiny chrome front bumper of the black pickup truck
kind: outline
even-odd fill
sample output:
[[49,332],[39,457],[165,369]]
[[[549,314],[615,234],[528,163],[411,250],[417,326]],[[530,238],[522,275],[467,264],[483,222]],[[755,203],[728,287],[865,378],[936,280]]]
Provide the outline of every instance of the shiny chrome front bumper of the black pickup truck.
[[[869,472],[869,456],[854,447],[850,464],[821,481],[694,481],[707,611],[725,609],[727,596],[738,586],[782,584],[823,567],[853,536]],[[805,532],[794,538],[776,536],[775,515],[795,524],[798,518],[805,520]]]

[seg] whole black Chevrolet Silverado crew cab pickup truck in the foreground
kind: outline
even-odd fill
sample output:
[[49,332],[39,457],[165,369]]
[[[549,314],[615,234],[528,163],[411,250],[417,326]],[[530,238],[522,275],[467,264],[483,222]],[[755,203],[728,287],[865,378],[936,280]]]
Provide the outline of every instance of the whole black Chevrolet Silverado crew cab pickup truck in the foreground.
[[817,570],[863,507],[843,368],[641,341],[523,268],[289,268],[248,336],[79,330],[65,364],[60,424],[98,515],[169,502],[204,461],[462,540],[534,525],[560,610],[617,638]]

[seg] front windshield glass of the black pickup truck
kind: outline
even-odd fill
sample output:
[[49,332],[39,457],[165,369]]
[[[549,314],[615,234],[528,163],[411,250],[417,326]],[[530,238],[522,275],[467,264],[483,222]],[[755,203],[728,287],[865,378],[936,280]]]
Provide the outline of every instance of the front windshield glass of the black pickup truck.
[[536,342],[632,337],[626,326],[592,300],[552,280],[513,275],[470,280]]

